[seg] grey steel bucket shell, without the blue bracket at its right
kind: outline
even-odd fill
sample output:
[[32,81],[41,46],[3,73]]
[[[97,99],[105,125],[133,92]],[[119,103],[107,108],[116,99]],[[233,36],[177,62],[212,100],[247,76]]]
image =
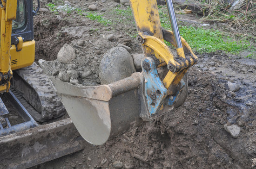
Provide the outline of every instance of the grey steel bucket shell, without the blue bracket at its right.
[[121,81],[94,87],[51,80],[81,136],[100,145],[142,123],[138,92],[141,78],[141,73],[135,73]]

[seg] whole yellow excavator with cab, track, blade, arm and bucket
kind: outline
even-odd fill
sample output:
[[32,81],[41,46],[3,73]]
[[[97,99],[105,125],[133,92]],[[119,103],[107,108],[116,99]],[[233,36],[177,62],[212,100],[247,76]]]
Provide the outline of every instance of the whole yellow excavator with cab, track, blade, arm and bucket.
[[[34,63],[37,0],[0,0],[0,166],[28,168],[100,145],[180,106],[188,94],[187,70],[198,58],[180,36],[171,0],[172,31],[161,27],[156,0],[130,0],[144,55],[141,72],[100,86],[75,86],[47,76]],[[164,41],[172,44],[176,55]],[[41,67],[41,68],[40,68]],[[45,72],[45,73],[44,73]],[[9,113],[5,103],[14,107]],[[131,106],[132,105],[132,106]],[[70,118],[40,125],[61,117]],[[13,112],[23,122],[12,125]],[[85,141],[86,140],[86,141]]]

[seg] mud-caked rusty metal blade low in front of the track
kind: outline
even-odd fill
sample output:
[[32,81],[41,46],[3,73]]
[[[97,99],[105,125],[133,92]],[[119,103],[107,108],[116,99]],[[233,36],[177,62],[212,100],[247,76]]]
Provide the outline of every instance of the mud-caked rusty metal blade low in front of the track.
[[0,137],[0,169],[25,169],[89,145],[70,118]]

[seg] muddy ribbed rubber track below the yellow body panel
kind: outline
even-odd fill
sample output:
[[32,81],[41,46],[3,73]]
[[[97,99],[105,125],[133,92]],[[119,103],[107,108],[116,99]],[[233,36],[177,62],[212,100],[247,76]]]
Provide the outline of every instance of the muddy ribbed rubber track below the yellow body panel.
[[[33,90],[38,94],[40,100],[40,108],[31,115],[36,121],[44,122],[50,119],[55,119],[61,117],[66,113],[66,110],[61,102],[59,96],[56,95],[51,82],[49,81],[47,75],[43,73],[43,70],[36,63],[31,66],[15,70],[15,72],[27,82],[31,87],[29,90]],[[14,77],[15,81],[15,77]],[[15,89],[22,93],[27,91],[20,91],[19,85],[15,86]],[[26,89],[27,90],[27,89]],[[24,97],[24,95],[22,95]],[[33,102],[33,97],[24,97],[31,105],[39,104],[38,102]],[[34,107],[36,109],[36,107]]]

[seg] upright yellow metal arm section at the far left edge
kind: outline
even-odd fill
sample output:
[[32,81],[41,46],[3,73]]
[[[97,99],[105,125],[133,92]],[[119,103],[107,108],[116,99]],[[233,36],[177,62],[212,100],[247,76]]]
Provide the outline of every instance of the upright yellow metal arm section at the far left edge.
[[0,0],[1,35],[0,35],[0,93],[8,92],[10,80],[13,76],[11,70],[11,37],[12,21],[16,18],[17,0]]

